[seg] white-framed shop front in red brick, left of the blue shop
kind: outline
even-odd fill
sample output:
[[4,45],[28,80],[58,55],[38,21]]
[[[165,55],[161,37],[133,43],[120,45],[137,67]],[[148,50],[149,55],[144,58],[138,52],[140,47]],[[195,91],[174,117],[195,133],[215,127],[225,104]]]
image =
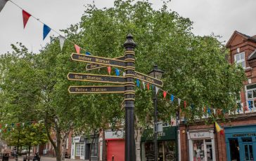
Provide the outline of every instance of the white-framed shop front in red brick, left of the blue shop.
[[215,135],[212,129],[189,130],[189,160],[215,161]]

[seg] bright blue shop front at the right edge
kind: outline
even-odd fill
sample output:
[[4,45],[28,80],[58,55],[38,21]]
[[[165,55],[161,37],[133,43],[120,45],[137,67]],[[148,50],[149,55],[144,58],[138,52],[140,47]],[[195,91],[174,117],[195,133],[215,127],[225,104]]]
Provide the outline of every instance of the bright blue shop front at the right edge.
[[224,127],[224,130],[228,161],[256,161],[256,125]]

